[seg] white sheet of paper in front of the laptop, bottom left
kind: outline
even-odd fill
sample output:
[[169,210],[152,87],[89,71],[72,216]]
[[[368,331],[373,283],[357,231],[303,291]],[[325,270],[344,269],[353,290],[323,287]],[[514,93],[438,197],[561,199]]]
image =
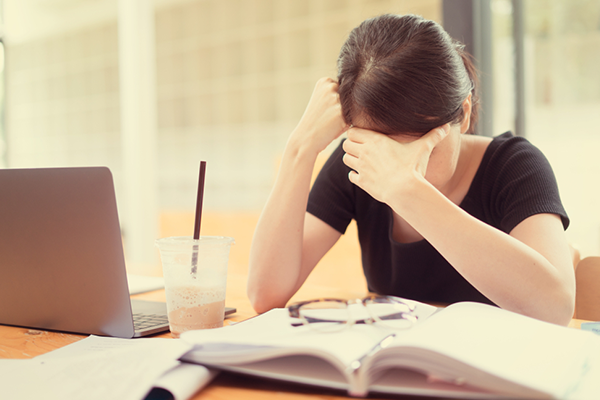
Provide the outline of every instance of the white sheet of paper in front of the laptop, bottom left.
[[190,346],[90,336],[30,360],[0,360],[0,398],[140,400]]

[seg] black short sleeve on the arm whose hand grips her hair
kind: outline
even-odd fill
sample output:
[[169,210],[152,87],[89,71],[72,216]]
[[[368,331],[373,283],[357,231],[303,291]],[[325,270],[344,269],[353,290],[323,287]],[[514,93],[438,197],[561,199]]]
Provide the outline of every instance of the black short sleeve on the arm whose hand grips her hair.
[[356,187],[348,179],[350,168],[342,161],[342,144],[319,172],[308,196],[307,211],[343,234],[355,216]]

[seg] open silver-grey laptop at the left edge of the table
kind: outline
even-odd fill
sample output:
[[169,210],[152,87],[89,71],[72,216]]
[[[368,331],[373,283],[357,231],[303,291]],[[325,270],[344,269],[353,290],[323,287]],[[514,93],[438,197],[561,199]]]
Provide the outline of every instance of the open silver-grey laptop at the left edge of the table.
[[0,324],[131,338],[166,313],[130,300],[108,168],[0,170]]

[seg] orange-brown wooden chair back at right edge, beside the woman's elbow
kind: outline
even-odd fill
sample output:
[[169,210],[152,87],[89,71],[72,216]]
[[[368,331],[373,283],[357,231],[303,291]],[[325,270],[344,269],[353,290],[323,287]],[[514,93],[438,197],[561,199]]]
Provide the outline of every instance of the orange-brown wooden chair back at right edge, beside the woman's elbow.
[[585,257],[575,268],[575,318],[600,321],[600,257]]

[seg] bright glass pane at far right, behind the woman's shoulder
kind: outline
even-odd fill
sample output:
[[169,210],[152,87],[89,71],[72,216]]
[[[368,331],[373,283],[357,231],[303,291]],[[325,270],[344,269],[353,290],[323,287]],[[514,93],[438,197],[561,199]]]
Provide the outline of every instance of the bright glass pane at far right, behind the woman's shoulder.
[[527,137],[550,160],[582,256],[600,254],[600,0],[526,0]]

